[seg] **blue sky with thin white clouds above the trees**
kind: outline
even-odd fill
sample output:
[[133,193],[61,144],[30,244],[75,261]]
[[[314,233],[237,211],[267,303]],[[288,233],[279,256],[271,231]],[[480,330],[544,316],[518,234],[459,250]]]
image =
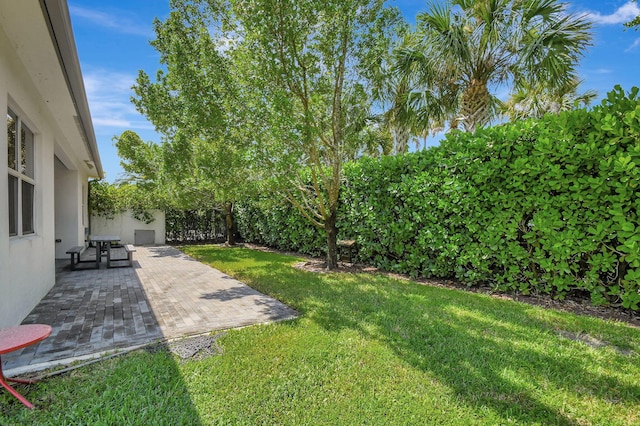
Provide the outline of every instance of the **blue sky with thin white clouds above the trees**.
[[[567,3],[569,12],[586,13],[595,24],[593,46],[579,66],[582,89],[596,90],[601,99],[615,84],[625,90],[640,86],[640,32],[622,25],[640,15],[640,7],[627,0]],[[390,4],[398,6],[410,24],[427,9],[427,1]],[[129,99],[138,70],[153,76],[159,69],[159,56],[149,41],[154,38],[154,18],[168,15],[169,1],[69,0],[69,11],[102,165],[106,179],[114,182],[122,173],[114,136],[133,130],[146,141],[160,141]]]

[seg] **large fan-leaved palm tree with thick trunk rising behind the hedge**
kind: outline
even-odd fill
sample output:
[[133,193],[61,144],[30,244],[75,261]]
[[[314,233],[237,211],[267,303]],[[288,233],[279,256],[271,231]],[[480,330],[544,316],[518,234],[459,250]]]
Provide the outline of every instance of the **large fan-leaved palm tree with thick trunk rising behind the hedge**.
[[576,80],[591,23],[555,0],[452,0],[418,15],[396,71],[419,82],[413,107],[474,131],[500,115],[495,90],[555,90]]

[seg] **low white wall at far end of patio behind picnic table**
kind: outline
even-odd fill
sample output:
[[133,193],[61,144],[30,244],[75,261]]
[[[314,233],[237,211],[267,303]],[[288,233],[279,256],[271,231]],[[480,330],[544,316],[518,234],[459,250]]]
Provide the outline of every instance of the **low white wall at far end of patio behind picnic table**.
[[91,235],[118,235],[122,244],[133,244],[135,242],[136,230],[155,231],[154,244],[165,243],[165,214],[162,210],[154,210],[155,220],[149,224],[139,221],[131,215],[131,212],[124,212],[115,215],[113,219],[102,216],[91,217]]

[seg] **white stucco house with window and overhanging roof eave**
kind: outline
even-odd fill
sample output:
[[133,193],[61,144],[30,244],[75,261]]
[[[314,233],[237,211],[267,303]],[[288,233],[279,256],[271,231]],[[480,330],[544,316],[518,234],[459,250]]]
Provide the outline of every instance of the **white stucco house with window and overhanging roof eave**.
[[81,245],[104,173],[66,0],[0,1],[0,327],[19,324]]

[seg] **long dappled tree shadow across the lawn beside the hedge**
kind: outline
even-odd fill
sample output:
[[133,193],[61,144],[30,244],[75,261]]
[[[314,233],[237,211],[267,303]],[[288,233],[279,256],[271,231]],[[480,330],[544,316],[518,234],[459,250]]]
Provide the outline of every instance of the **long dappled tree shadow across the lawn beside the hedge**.
[[259,261],[240,269],[259,291],[328,331],[356,330],[384,343],[465,404],[505,421],[575,424],[560,402],[545,400],[547,388],[576,400],[640,404],[637,384],[597,368],[602,361],[593,351],[577,356],[579,343],[550,337],[549,324],[519,304],[374,275],[302,272],[290,257],[271,253],[218,256]]

